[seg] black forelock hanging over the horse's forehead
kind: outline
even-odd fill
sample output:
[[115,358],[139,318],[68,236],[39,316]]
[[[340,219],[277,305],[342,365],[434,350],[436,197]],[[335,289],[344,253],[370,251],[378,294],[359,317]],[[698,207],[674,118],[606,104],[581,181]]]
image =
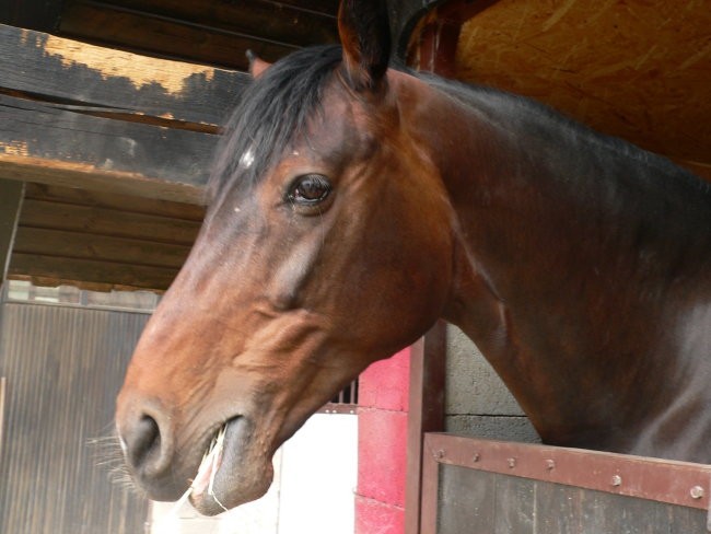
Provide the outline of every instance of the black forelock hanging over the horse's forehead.
[[215,152],[208,200],[252,187],[318,112],[324,88],[341,62],[338,45],[304,48],[269,67],[240,95]]

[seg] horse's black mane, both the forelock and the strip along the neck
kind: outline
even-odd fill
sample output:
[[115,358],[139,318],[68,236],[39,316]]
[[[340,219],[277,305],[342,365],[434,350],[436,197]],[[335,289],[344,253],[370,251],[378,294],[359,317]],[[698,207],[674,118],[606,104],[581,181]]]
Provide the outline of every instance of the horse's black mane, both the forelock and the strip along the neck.
[[[210,200],[228,188],[254,186],[283,155],[308,118],[322,111],[324,89],[341,58],[340,45],[303,48],[273,63],[243,91],[218,147],[208,184]],[[711,184],[666,158],[599,134],[545,104],[492,88],[415,72],[403,66],[394,68],[420,79],[464,107],[489,115],[502,128],[516,130],[533,140],[550,140],[561,151],[568,147],[579,152],[578,158],[606,161],[613,158],[621,165],[636,161],[654,171],[642,179],[681,181],[690,193],[711,196]],[[245,154],[249,164],[241,165]]]

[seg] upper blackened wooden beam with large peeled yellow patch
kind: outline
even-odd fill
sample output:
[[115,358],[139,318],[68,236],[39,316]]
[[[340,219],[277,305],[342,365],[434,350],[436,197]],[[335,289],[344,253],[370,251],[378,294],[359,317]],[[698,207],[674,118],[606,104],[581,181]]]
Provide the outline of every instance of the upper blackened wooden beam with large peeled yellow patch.
[[[0,92],[73,103],[124,119],[223,125],[249,77],[0,24]],[[93,109],[96,108],[96,109]],[[205,128],[203,128],[205,130]]]

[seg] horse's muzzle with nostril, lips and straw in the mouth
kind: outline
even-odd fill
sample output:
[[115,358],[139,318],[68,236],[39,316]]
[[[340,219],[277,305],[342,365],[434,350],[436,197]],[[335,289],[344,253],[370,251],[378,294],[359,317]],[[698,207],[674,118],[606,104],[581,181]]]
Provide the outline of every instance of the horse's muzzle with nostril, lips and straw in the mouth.
[[[247,417],[233,416],[178,443],[175,418],[156,403],[119,403],[117,431],[132,478],[153,500],[175,501],[186,491],[202,514],[214,515],[261,497],[273,476],[271,448],[256,446]],[[218,440],[218,436],[222,433]],[[219,451],[214,451],[220,441]]]

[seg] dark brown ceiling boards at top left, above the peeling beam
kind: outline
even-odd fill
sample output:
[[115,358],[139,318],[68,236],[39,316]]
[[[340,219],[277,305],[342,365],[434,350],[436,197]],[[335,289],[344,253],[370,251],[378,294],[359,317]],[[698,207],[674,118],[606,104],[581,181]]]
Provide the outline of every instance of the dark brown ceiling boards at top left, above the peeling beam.
[[338,40],[338,0],[0,0],[0,23],[240,70],[247,49],[273,61]]

